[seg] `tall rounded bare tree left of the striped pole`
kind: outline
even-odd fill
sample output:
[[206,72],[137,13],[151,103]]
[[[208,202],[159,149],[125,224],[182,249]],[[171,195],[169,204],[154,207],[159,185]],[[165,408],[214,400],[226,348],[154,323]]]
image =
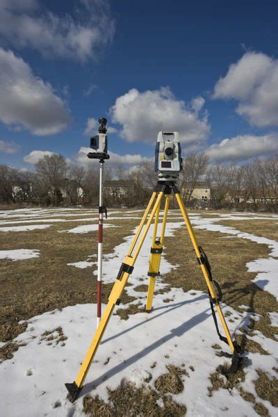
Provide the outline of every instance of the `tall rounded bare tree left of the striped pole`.
[[58,206],[62,199],[61,188],[65,185],[67,174],[65,158],[57,154],[46,155],[35,164],[35,168],[45,191],[53,196],[54,204]]

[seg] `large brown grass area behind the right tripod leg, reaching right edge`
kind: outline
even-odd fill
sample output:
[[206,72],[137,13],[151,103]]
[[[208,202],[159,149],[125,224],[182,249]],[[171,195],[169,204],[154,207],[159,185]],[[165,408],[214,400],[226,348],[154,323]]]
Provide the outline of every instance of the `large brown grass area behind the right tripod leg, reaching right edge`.
[[[246,267],[247,262],[268,257],[268,246],[240,238],[224,239],[225,235],[219,232],[195,229],[195,234],[197,242],[208,255],[213,277],[222,288],[223,302],[238,311],[241,311],[240,305],[249,306],[250,311],[262,316],[259,321],[253,320],[252,329],[259,330],[266,337],[275,338],[278,329],[271,325],[268,311],[278,311],[278,302],[273,295],[252,282],[256,273],[247,272]],[[173,238],[167,238],[165,244],[166,259],[179,267],[165,275],[163,281],[171,286],[181,287],[183,291],[206,291],[204,277],[186,228],[178,229]]]

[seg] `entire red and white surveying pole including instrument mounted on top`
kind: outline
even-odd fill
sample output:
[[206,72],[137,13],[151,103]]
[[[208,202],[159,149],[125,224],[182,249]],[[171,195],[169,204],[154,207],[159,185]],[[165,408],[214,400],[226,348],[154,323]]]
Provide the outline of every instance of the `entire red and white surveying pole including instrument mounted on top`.
[[104,160],[109,159],[107,154],[107,120],[104,117],[99,119],[99,134],[91,138],[90,147],[93,152],[88,153],[88,158],[99,159],[99,228],[97,234],[97,327],[101,320],[101,282],[102,282],[102,243],[104,229],[104,214],[107,219],[107,208],[103,205],[103,173]]

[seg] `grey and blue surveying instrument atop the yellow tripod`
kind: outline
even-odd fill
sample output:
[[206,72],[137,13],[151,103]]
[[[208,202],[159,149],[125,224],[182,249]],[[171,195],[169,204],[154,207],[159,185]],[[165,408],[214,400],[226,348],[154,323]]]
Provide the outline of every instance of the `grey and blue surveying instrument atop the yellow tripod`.
[[182,170],[181,144],[178,132],[159,132],[154,170],[159,181],[176,181]]

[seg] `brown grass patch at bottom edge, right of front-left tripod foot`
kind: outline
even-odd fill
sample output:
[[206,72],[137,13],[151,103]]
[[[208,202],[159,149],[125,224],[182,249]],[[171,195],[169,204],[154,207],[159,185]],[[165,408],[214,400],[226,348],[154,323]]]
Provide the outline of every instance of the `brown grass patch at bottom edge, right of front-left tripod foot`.
[[[158,400],[162,400],[163,407],[157,404]],[[186,414],[186,407],[168,395],[156,393],[149,386],[136,388],[123,381],[117,389],[108,389],[107,403],[98,395],[86,395],[83,411],[92,417],[181,417]]]

